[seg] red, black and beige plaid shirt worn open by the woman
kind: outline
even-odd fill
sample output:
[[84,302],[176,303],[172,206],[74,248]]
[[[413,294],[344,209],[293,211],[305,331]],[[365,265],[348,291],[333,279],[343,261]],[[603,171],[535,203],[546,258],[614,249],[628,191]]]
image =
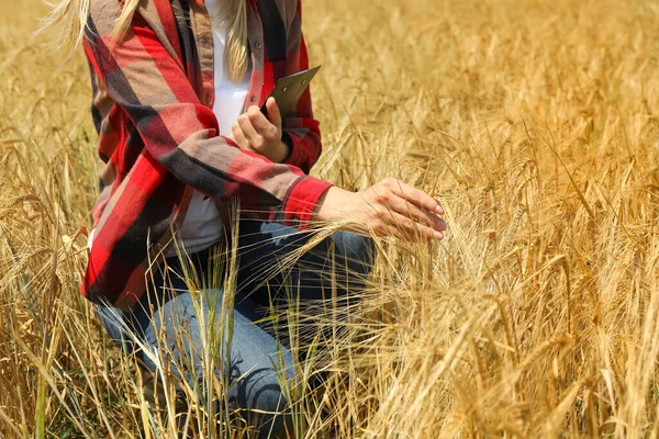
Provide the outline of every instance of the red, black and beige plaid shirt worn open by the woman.
[[[261,105],[278,78],[308,68],[300,1],[245,1],[253,63],[246,105]],[[287,164],[217,135],[203,0],[143,1],[126,37],[113,44],[120,12],[120,0],[93,0],[85,38],[105,166],[81,290],[92,301],[131,309],[193,189],[221,205],[236,200],[250,216],[304,228],[330,183],[306,176],[321,153],[309,91],[283,124],[292,143]]]

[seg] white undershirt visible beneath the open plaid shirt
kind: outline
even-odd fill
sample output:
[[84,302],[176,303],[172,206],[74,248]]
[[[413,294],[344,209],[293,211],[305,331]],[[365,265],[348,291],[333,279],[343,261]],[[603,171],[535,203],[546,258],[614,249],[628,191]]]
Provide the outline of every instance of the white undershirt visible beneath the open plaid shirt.
[[[245,108],[249,92],[247,71],[241,82],[232,82],[224,71],[224,47],[226,45],[226,29],[221,25],[220,2],[225,0],[206,0],[205,7],[213,26],[213,46],[215,52],[215,104],[213,112],[220,124],[220,134],[231,134],[231,126],[238,120]],[[214,200],[194,191],[190,200],[188,213],[178,233],[179,241],[188,254],[201,251],[217,243],[223,235],[220,210]],[[176,255],[172,246],[168,255]]]

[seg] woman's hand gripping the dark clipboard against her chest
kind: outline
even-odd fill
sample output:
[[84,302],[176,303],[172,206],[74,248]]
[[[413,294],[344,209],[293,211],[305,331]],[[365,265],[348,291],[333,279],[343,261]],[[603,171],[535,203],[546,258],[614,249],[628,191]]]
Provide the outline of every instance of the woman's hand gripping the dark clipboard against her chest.
[[275,102],[269,98],[266,102],[268,117],[260,112],[256,105],[247,109],[247,112],[238,116],[238,121],[232,125],[230,135],[241,148],[260,154],[270,161],[281,164],[289,156],[289,147],[281,142],[281,113]]

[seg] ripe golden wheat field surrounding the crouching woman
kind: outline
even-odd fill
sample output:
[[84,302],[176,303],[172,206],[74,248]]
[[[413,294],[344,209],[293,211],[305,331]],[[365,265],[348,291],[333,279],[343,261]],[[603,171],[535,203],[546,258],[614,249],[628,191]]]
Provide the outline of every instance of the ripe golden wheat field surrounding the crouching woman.
[[[449,229],[379,240],[359,336],[332,341],[298,436],[657,438],[659,3],[303,4],[314,175],[405,180]],[[0,7],[0,437],[176,437],[78,293],[87,64],[33,35],[42,2]]]

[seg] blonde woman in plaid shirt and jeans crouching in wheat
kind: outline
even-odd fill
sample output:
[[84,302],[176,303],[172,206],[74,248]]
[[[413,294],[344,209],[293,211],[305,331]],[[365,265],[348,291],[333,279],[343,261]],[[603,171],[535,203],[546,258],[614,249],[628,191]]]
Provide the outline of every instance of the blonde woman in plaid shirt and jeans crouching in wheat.
[[[226,212],[237,203],[235,324],[231,364],[221,369],[237,383],[227,391],[235,408],[280,410],[272,370],[278,344],[250,324],[263,317],[259,305],[269,306],[266,283],[286,278],[297,299],[317,304],[327,278],[319,268],[332,260],[345,295],[370,270],[372,243],[364,236],[442,239],[442,206],[393,179],[353,193],[308,176],[321,153],[309,91],[292,117],[282,121],[273,100],[268,116],[260,113],[278,78],[308,68],[299,0],[60,0],[51,15],[56,21],[67,24],[70,42],[83,42],[105,164],[82,293],[99,304],[116,340],[130,345],[127,329],[137,334],[152,369],[147,353],[161,330],[175,357],[197,352],[189,356],[193,364],[174,371],[193,382],[203,357],[198,322],[220,313],[214,303],[222,291],[196,306],[177,250],[190,254],[200,282],[210,284],[212,249],[227,245]],[[309,241],[304,230],[346,219],[358,234],[337,232],[292,270],[277,272],[278,261]],[[180,326],[191,334],[189,347],[169,339]],[[281,358],[289,370],[290,352],[283,349]],[[252,418],[275,435],[283,435],[287,420]]]

